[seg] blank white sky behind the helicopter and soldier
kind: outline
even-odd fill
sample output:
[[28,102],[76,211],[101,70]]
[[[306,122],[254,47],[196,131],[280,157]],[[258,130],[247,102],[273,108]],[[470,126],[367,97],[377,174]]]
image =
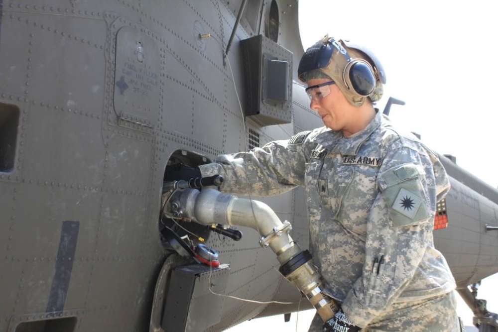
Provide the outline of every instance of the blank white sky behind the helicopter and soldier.
[[[280,8],[283,10],[283,8]],[[299,21],[304,49],[326,33],[370,48],[384,67],[398,126],[498,187],[498,19],[489,0],[387,1],[301,0]],[[498,234],[497,234],[498,236]],[[479,298],[498,312],[498,274],[483,280]],[[473,314],[460,300],[459,315],[472,326]],[[313,311],[256,319],[228,331],[307,331]]]

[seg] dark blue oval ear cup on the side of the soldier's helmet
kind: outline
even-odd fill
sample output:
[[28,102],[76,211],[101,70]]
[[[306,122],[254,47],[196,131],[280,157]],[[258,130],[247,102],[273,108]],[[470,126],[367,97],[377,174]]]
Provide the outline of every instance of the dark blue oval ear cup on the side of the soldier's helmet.
[[356,59],[344,68],[343,81],[361,97],[367,97],[375,90],[376,79],[372,66],[363,59]]

